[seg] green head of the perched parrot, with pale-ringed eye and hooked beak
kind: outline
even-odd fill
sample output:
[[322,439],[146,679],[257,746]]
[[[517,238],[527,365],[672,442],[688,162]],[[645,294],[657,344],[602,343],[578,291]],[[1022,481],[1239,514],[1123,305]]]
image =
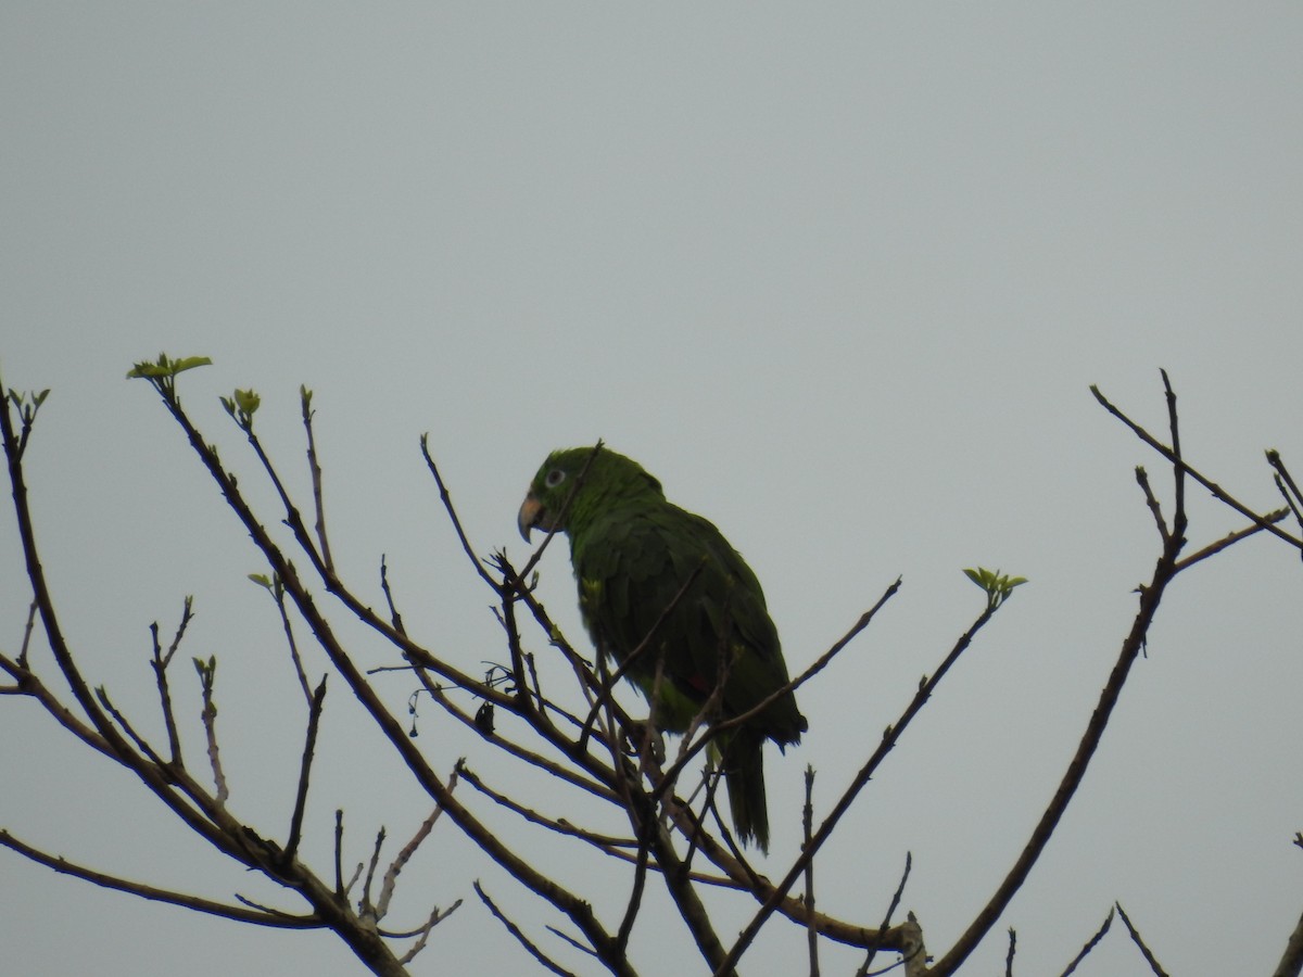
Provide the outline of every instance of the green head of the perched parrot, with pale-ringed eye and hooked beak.
[[547,456],[529,483],[516,526],[525,542],[530,529],[568,533],[603,507],[648,496],[665,499],[661,483],[632,459],[607,451],[562,448]]

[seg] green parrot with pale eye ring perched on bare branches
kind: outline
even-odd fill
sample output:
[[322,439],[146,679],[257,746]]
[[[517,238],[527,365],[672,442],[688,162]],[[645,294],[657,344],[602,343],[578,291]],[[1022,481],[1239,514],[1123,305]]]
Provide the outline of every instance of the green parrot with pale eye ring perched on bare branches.
[[[706,719],[749,713],[787,684],[778,630],[751,567],[711,522],[667,502],[632,459],[606,448],[554,451],[529,486],[517,525],[526,542],[532,529],[569,537],[580,612],[601,655],[622,664],[652,636],[625,675],[649,701],[655,690],[661,729],[684,732],[721,677]],[[761,748],[766,739],[779,749],[800,743],[805,728],[787,692],[711,744],[737,836],[761,851],[769,851]]]

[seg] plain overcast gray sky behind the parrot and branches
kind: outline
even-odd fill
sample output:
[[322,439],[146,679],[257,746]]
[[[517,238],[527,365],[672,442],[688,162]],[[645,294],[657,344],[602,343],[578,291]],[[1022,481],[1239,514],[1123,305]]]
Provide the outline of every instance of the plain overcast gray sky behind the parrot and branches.
[[[220,659],[232,805],[283,834],[302,715],[274,610],[245,581],[262,567],[125,370],[160,349],[211,356],[182,397],[250,486],[216,397],[262,392],[263,436],[302,487],[297,387],[313,387],[345,576],[379,601],[387,554],[408,627],[469,671],[504,651],[418,435],[478,550],[517,556],[542,457],[602,436],[747,555],[794,671],[904,574],[880,624],[803,692],[800,749],[767,757],[780,873],[804,765],[826,810],[980,611],[960,568],[1025,574],[821,862],[821,907],[876,922],[912,851],[904,905],[943,951],[1058,783],[1157,554],[1132,468],[1169,479],[1088,384],[1161,430],[1165,366],[1187,457],[1259,508],[1278,504],[1263,448],[1303,470],[1300,50],[1303,10],[1285,3],[10,0],[0,370],[53,388],[29,475],[69,636],[156,733],[147,625],[169,630],[195,594],[182,654]],[[1197,492],[1191,511],[1195,545],[1239,526]],[[14,547],[7,518],[7,650],[26,606]],[[1173,973],[1269,972],[1303,908],[1298,573],[1296,554],[1255,539],[1178,581],[973,973],[1002,967],[1007,926],[1019,972],[1058,972],[1114,899]],[[543,595],[579,640],[560,548]],[[194,683],[177,681],[198,763]],[[386,690],[401,703],[409,688]],[[465,753],[519,776],[433,707],[421,724],[437,767]],[[343,683],[322,736],[311,853],[328,857],[337,805],[352,860],[382,823],[409,836],[425,801]],[[25,703],[0,701],[0,825],[20,836],[297,908]],[[585,813],[550,787],[532,796]],[[599,912],[623,905],[618,875],[537,845]],[[537,939],[558,922],[451,825],[404,878],[395,925],[468,900],[416,973],[528,969],[473,878]],[[3,852],[0,892],[13,973],[360,969],[328,935],[152,907]],[[636,952],[697,972],[687,942],[658,907]],[[794,972],[803,952],[778,922],[747,970]],[[1115,929],[1080,972],[1145,967]]]

